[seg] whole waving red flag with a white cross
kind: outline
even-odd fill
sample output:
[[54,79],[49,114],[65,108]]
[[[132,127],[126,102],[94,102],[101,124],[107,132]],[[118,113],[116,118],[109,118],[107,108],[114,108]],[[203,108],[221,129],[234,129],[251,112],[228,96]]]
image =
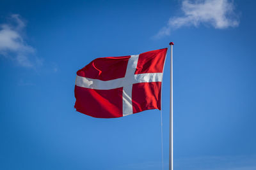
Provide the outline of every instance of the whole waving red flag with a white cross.
[[97,118],[161,110],[167,48],[124,57],[102,57],[77,71],[75,108]]

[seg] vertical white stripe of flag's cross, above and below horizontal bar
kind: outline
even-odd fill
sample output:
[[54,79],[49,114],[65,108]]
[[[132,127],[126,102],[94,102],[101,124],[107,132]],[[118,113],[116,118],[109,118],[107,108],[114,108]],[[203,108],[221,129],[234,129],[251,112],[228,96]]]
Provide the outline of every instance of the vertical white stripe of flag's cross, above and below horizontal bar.
[[[131,55],[128,60],[125,78],[134,78],[139,55]],[[123,117],[131,115],[132,112],[132,81],[123,87]]]

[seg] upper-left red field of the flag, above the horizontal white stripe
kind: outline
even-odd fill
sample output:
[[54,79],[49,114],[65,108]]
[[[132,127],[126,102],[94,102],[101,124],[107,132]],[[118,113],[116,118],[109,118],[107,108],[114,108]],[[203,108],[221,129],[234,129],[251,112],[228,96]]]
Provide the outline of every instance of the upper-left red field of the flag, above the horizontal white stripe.
[[125,76],[129,58],[130,56],[98,58],[77,71],[77,75],[103,81],[122,78]]

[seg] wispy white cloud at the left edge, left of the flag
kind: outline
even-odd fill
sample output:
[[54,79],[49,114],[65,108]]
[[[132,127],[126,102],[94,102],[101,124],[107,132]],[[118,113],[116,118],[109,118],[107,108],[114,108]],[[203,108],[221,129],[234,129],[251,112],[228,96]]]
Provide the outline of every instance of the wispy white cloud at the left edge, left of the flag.
[[24,40],[26,24],[20,15],[14,14],[10,22],[0,25],[0,56],[12,59],[22,67],[42,65],[42,59],[36,57],[35,48]]

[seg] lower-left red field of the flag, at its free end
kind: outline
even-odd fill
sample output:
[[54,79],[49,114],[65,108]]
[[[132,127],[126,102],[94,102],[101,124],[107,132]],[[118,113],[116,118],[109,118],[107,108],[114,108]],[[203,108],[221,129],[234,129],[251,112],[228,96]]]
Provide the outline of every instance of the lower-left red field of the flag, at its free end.
[[75,86],[75,108],[91,117],[122,117],[122,94],[123,88],[95,90]]

